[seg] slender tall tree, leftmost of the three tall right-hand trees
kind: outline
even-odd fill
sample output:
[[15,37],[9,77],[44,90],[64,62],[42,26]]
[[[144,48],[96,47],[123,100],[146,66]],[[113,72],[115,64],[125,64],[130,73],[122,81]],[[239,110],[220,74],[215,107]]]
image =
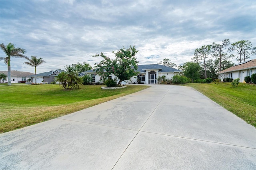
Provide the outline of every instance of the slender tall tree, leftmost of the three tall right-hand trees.
[[204,77],[207,79],[206,74],[206,60],[208,58],[208,55],[211,53],[211,45],[203,45],[201,48],[197,48],[194,52],[194,58],[192,58],[194,61],[200,61],[203,60],[204,64]]

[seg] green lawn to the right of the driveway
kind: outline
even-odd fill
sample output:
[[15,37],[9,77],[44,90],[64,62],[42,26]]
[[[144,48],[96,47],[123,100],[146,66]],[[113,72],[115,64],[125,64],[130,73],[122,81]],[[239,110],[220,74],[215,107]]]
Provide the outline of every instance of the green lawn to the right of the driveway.
[[186,86],[193,87],[256,127],[256,85],[239,83],[238,87],[232,87],[231,83],[188,83]]

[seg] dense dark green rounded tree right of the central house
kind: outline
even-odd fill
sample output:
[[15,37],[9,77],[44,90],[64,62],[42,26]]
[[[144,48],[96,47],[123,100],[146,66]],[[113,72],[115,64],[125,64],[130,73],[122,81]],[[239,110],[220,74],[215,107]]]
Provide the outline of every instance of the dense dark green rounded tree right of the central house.
[[198,63],[186,62],[183,64],[184,76],[190,78],[192,83],[200,77],[200,65]]

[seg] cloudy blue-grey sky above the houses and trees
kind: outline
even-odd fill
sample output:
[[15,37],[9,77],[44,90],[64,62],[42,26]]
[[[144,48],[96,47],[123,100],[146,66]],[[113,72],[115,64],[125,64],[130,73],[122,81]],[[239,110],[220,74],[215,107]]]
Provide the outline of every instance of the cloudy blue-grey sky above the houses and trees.
[[[47,63],[37,73],[84,61],[94,66],[101,58],[92,55],[114,57],[112,51],[129,45],[139,50],[139,64],[168,58],[182,65],[196,48],[226,38],[256,46],[255,0],[0,1],[0,43],[42,57]],[[34,73],[25,61],[12,58],[11,69]],[[7,70],[3,61],[0,70]]]

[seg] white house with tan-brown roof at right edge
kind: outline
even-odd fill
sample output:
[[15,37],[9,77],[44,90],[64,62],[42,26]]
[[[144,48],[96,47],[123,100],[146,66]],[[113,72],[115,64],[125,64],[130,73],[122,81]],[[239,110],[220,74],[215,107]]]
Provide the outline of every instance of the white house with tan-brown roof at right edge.
[[228,69],[222,70],[217,74],[220,75],[221,81],[225,78],[240,79],[240,82],[245,82],[244,77],[252,76],[256,73],[256,59],[251,59],[243,63],[238,63]]

